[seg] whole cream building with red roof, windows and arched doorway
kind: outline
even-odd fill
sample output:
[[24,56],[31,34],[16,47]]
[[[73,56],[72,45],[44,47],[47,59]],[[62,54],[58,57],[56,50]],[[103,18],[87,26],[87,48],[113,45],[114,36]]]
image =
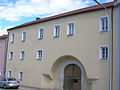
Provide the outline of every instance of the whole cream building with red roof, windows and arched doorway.
[[[104,6],[111,12],[114,3]],[[111,16],[99,5],[8,29],[6,76],[37,88],[116,90],[116,12],[115,44]]]

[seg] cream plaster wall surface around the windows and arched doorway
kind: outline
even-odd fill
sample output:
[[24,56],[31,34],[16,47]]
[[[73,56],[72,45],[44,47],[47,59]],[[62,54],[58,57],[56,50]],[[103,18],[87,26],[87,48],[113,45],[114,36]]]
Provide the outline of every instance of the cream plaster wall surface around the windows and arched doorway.
[[[14,58],[7,59],[7,71],[12,70],[12,76],[16,78],[19,77],[19,71],[23,71],[24,80],[21,84],[25,86],[60,88],[59,75],[62,63],[58,65],[55,76],[52,73],[52,67],[60,57],[70,56],[70,60],[78,60],[83,65],[87,78],[84,84],[87,85],[89,81],[92,83],[92,90],[109,90],[109,60],[99,60],[99,46],[110,46],[110,30],[99,32],[99,17],[106,15],[106,11],[97,10],[9,30],[7,57],[9,52],[13,51]],[[75,34],[67,36],[67,23],[72,21],[75,22]],[[53,37],[55,24],[61,25],[58,38]],[[40,27],[45,29],[43,40],[38,40]],[[27,34],[25,42],[21,42],[23,31]],[[10,43],[12,33],[15,34],[14,43]],[[38,49],[43,50],[42,60],[36,60]],[[25,51],[24,60],[20,60],[22,50]],[[63,63],[67,60],[64,59]],[[48,74],[53,79],[49,80],[42,74]]]

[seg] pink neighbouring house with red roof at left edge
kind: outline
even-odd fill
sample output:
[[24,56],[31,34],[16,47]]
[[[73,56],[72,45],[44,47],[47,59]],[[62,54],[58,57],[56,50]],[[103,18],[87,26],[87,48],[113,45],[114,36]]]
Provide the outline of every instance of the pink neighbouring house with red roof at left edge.
[[8,35],[0,36],[0,77],[4,76],[6,66],[7,40]]

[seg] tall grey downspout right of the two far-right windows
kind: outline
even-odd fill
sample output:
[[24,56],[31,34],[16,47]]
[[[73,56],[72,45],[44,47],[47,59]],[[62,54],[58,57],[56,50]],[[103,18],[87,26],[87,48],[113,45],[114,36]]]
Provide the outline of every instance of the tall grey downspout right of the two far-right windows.
[[113,9],[111,9],[111,33],[110,33],[110,90],[113,89]]

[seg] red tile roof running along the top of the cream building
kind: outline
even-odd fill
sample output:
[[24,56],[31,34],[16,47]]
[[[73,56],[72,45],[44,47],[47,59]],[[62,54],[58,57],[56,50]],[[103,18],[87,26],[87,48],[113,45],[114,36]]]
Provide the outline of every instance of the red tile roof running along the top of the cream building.
[[[108,7],[113,7],[114,3],[109,2],[109,3],[104,3],[103,5],[104,5],[104,7],[108,8]],[[38,19],[38,20],[35,20],[35,21],[31,21],[31,22],[27,22],[27,23],[24,23],[22,25],[10,28],[8,30],[16,29],[16,28],[19,28],[19,27],[23,27],[23,26],[27,26],[27,25],[31,25],[31,24],[35,24],[35,23],[45,22],[45,21],[48,21],[48,20],[61,18],[61,17],[69,16],[69,15],[74,15],[74,14],[77,14],[77,13],[98,10],[98,9],[103,9],[103,7],[101,7],[100,5],[95,5],[95,6],[91,6],[91,7],[87,7],[87,8],[83,8],[83,9],[78,9],[78,10],[70,11],[70,12],[67,12],[67,13],[63,13],[63,14],[59,14],[59,15],[55,15],[55,16],[51,16],[51,17],[47,17],[47,18],[43,18],[43,19]]]

